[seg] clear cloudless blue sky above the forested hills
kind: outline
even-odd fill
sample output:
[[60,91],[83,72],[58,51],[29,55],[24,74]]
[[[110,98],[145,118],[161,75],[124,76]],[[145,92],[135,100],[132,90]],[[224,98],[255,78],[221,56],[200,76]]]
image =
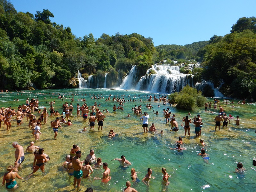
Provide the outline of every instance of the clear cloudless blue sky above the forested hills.
[[230,33],[240,17],[256,17],[256,0],[11,0],[18,12],[49,9],[52,22],[77,37],[138,33],[154,45],[209,40]]

